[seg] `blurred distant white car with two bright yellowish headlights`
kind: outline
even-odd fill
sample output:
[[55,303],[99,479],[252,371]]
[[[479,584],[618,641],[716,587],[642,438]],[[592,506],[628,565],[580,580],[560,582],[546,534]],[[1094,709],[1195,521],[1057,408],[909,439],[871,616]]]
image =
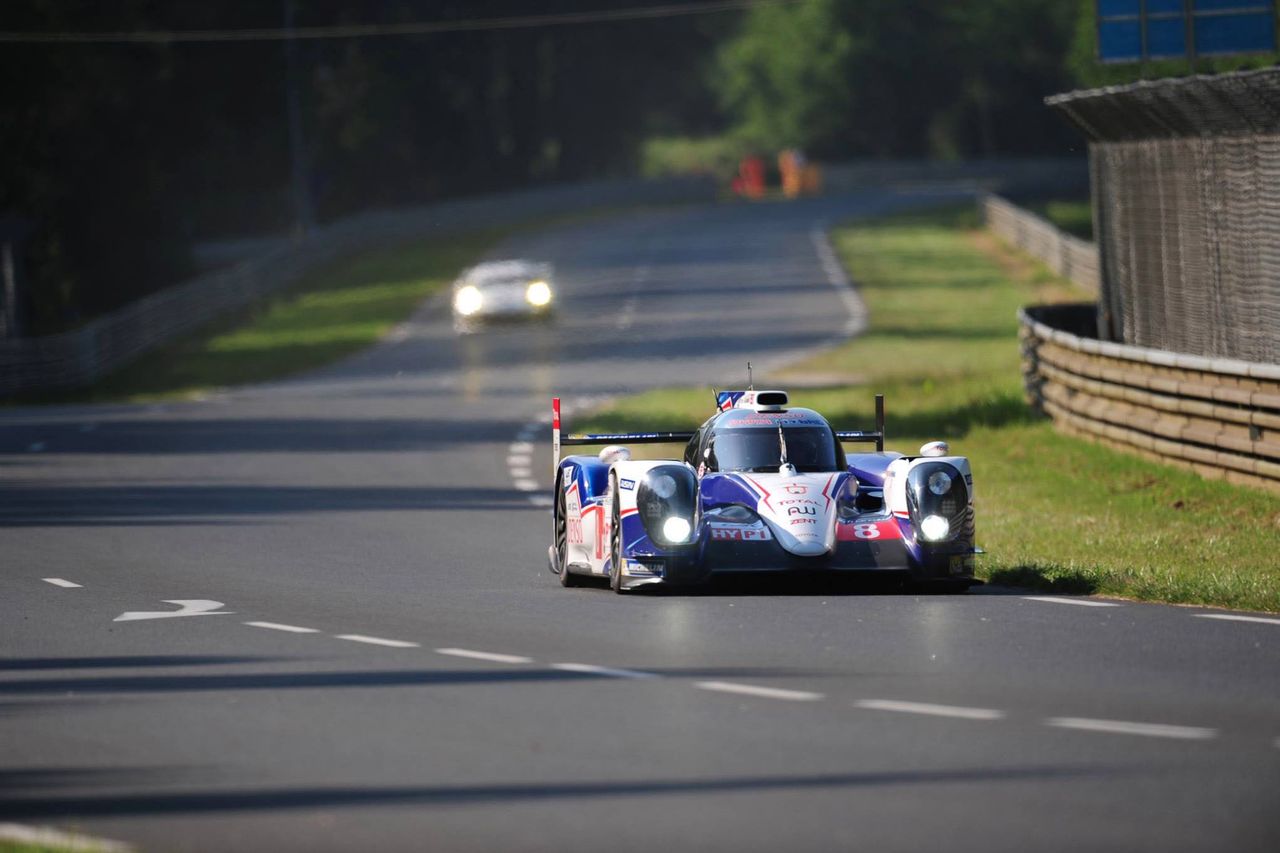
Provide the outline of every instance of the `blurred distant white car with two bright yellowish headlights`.
[[549,316],[554,298],[550,264],[531,260],[476,264],[453,282],[453,328],[466,334],[485,319]]

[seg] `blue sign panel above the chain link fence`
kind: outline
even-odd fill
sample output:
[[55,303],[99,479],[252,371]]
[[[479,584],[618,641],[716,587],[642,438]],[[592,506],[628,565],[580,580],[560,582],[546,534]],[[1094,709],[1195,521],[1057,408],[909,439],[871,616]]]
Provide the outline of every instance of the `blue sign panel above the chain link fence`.
[[1276,0],[1097,0],[1105,63],[1276,50]]

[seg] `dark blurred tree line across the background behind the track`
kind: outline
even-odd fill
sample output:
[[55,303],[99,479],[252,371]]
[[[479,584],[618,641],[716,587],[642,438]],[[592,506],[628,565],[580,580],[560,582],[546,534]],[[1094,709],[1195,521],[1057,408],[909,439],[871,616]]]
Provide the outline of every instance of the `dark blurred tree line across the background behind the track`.
[[[5,0],[0,29],[278,28],[285,3],[303,28],[644,5]],[[805,0],[297,41],[305,182],[324,222],[631,174],[655,136],[733,141],[723,150],[799,145],[826,159],[1061,152],[1078,140],[1042,99],[1097,77],[1092,3]],[[32,227],[28,333],[182,279],[196,241],[288,232],[285,95],[280,41],[0,45],[0,219]]]

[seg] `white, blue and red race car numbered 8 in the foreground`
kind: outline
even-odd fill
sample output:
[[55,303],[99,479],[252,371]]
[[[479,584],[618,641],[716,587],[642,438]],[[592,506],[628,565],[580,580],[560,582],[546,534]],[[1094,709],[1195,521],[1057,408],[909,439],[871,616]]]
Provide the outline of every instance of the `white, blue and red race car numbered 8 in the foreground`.
[[[874,430],[836,430],[783,391],[724,391],[692,433],[562,435],[552,403],[552,573],[614,592],[703,584],[732,573],[895,575],[924,590],[974,581],[969,460],[929,442],[884,451]],[[684,443],[678,460],[634,460],[626,444]],[[850,452],[845,443],[874,444]],[[562,446],[603,444],[595,456]]]

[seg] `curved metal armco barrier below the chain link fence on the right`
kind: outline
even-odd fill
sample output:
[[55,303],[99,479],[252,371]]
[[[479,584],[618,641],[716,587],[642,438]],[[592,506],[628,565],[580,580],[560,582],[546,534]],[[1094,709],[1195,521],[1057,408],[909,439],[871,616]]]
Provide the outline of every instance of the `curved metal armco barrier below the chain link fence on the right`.
[[1096,306],[1019,311],[1033,406],[1066,433],[1280,492],[1280,365],[1204,359],[1084,337]]

